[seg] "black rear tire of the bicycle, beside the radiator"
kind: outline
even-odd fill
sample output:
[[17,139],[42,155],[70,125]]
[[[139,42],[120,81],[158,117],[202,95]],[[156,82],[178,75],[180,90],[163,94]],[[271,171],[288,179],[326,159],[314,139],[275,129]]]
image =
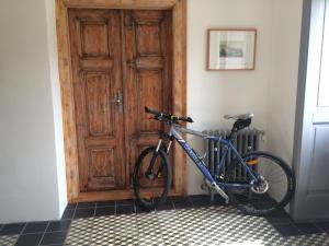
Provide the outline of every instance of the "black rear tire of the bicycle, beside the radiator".
[[[260,203],[254,203],[256,208],[250,208],[250,204],[245,204],[238,199],[239,196],[241,196],[238,192],[234,192],[234,190],[237,190],[236,188],[227,188],[227,195],[229,197],[230,202],[241,210],[242,212],[251,215],[270,215],[274,213],[275,211],[283,209],[293,198],[294,191],[295,191],[295,175],[292,172],[291,167],[286,164],[285,161],[283,161],[281,157],[275,156],[271,153],[268,152],[262,152],[262,151],[254,151],[254,152],[249,152],[245,155],[242,155],[243,161],[246,160],[259,160],[259,159],[265,159],[268,161],[271,161],[271,163],[277,164],[279,167],[282,168],[284,175],[286,176],[286,183],[287,187],[285,189],[285,194],[283,195],[283,198],[279,202],[273,202],[273,206],[270,208],[262,208]],[[226,173],[226,181],[231,181],[234,179],[234,176],[236,175],[236,168],[240,164],[240,162],[232,163],[231,165],[228,166],[227,173]],[[240,164],[241,165],[241,164]],[[266,165],[266,164],[265,164]],[[272,168],[272,167],[271,167]],[[270,185],[269,185],[270,186]],[[249,188],[250,189],[250,188]],[[253,192],[252,190],[248,191],[250,196],[250,192]],[[269,195],[268,195],[269,196]],[[264,196],[265,197],[265,196]],[[246,198],[245,198],[246,199]],[[245,201],[246,202],[246,201]]]

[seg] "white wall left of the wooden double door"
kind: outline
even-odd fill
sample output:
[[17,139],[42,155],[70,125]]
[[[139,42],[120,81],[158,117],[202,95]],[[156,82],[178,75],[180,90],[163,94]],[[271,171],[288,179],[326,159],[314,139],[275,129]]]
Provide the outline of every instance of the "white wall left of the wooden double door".
[[59,219],[67,202],[56,39],[47,33],[55,22],[45,3],[1,1],[0,223]]

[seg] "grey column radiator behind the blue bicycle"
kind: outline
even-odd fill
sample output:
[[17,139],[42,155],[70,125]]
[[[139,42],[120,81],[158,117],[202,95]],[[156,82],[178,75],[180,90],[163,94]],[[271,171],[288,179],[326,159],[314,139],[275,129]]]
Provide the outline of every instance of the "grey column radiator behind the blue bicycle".
[[[222,138],[226,138],[229,136],[230,130],[207,130],[203,131],[204,133],[211,134],[211,136],[217,136]],[[264,132],[258,129],[243,129],[238,131],[237,137],[235,139],[235,147],[238,150],[239,153],[243,154],[249,151],[257,151],[259,150],[260,140],[262,139]],[[208,165],[208,168],[212,174],[214,174],[214,169],[216,164],[218,163],[218,160],[222,159],[223,148],[224,145],[219,144],[219,141],[215,140],[205,140],[204,142],[205,151],[206,151],[206,159],[205,162]],[[235,154],[232,151],[229,151],[226,155],[224,166],[222,167],[222,174],[225,175],[225,172],[227,169],[227,165],[234,161]],[[234,180],[243,180],[247,177],[246,171],[240,166],[240,168],[237,168]],[[203,187],[205,187],[203,185]],[[212,194],[213,197],[213,194]]]

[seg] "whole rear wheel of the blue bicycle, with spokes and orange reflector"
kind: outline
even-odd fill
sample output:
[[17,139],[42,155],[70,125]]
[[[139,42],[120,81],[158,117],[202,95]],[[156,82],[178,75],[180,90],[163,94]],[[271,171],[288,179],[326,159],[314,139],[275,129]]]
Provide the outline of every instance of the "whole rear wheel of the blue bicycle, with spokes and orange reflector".
[[290,166],[282,159],[260,151],[247,153],[242,159],[259,180],[256,184],[242,171],[241,163],[232,163],[227,168],[226,181],[254,186],[228,188],[231,203],[253,215],[269,215],[284,208],[295,190],[295,176]]

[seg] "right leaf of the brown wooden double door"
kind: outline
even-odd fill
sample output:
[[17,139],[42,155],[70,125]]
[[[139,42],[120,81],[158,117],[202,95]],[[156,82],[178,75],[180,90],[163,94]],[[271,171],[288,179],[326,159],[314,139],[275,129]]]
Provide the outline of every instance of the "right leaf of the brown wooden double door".
[[171,112],[172,26],[170,11],[124,12],[124,80],[127,177],[143,149],[157,143],[163,125],[144,107]]

